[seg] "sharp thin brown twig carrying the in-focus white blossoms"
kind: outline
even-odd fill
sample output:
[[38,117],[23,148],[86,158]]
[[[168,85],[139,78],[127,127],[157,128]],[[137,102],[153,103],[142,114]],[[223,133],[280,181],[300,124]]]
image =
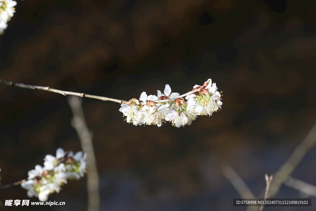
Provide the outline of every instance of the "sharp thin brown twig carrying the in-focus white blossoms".
[[[55,92],[61,95],[74,95],[74,96],[79,96],[79,97],[88,97],[88,98],[94,98],[94,99],[98,99],[98,100],[103,100],[103,101],[112,101],[112,102],[118,102],[120,104],[127,104],[129,105],[128,101],[125,100],[118,100],[118,99],[113,99],[113,98],[109,98],[109,97],[102,97],[102,96],[96,96],[96,95],[88,95],[88,94],[84,94],[84,93],[79,93],[79,92],[70,92],[70,91],[63,91],[63,90],[57,90],[57,89],[53,89],[49,86],[33,86],[33,85],[27,85],[27,84],[20,84],[20,83],[15,83],[15,82],[11,82],[11,81],[6,81],[6,80],[2,80],[0,79],[0,83],[3,84],[7,84],[9,86],[13,86],[13,87],[21,87],[21,88],[26,88],[26,89],[32,89],[32,90],[45,90],[45,91],[50,91],[50,92]],[[154,102],[159,103],[159,102],[170,102],[170,101],[174,101],[177,98],[181,98],[181,97],[185,97],[187,95],[191,95],[195,92],[198,92],[200,89],[197,90],[193,90],[193,91],[189,91],[183,95],[180,95],[179,97],[176,98],[170,98],[170,99],[165,99],[165,100],[154,100]],[[139,102],[138,105],[145,105],[146,102]]]

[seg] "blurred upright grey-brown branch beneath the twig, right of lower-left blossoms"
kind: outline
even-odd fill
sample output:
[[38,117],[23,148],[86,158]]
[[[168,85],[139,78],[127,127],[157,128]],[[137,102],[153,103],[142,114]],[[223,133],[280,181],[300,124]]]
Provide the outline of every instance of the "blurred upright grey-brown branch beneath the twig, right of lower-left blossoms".
[[81,99],[71,96],[68,99],[68,103],[74,115],[71,120],[71,125],[75,128],[79,136],[83,152],[87,153],[88,211],[97,211],[99,210],[100,205],[99,176],[96,167],[92,134],[90,133],[84,118]]

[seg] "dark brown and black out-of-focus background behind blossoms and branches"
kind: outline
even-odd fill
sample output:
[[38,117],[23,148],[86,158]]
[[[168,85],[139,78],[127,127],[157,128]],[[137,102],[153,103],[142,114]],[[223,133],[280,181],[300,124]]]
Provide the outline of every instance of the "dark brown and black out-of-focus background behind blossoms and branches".
[[[240,196],[222,164],[258,196],[264,174],[313,126],[315,18],[313,0],[18,1],[0,36],[0,78],[124,100],[165,84],[185,93],[211,78],[223,91],[222,111],[181,128],[136,127],[118,103],[83,99],[100,210],[245,210],[232,206]],[[0,84],[0,101],[2,184],[26,178],[58,147],[81,150],[66,97]],[[316,185],[315,154],[313,147],[291,176]],[[285,185],[275,197],[311,198]],[[29,199],[21,187],[0,190],[0,209],[43,209],[5,207],[6,199]],[[66,205],[47,210],[86,210],[86,178],[49,200]]]

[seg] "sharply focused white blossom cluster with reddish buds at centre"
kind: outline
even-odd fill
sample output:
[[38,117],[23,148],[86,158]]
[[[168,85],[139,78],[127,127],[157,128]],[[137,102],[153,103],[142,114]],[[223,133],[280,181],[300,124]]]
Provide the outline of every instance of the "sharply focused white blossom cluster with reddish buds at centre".
[[[198,115],[212,115],[222,108],[221,94],[216,84],[208,79],[202,86],[195,85],[193,94],[185,99],[179,93],[172,93],[169,84],[163,93],[157,90],[157,96],[143,92],[137,100],[133,98],[129,105],[121,104],[120,112],[126,116],[126,121],[134,125],[157,125],[170,121],[173,126],[191,125]],[[168,100],[170,99],[170,100]],[[162,102],[161,102],[162,101]]]

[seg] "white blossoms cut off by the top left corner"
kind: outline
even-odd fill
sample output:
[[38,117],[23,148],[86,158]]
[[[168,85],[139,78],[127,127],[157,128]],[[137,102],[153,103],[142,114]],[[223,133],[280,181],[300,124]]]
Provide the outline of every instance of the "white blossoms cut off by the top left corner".
[[7,28],[7,22],[15,13],[16,1],[0,0],[0,34]]

